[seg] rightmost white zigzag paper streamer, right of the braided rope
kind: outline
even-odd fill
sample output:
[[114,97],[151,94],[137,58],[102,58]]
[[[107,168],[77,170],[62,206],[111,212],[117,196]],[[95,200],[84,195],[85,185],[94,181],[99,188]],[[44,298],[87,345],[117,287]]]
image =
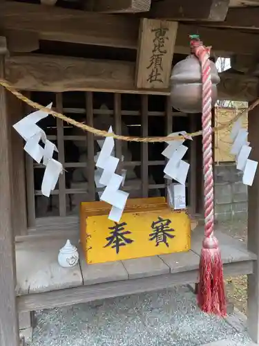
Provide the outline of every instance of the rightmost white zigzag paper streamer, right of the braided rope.
[[234,123],[230,136],[233,140],[230,154],[236,156],[236,167],[243,172],[242,182],[244,185],[251,186],[256,175],[258,162],[249,159],[252,148],[247,142],[248,131],[242,129],[241,118]]

